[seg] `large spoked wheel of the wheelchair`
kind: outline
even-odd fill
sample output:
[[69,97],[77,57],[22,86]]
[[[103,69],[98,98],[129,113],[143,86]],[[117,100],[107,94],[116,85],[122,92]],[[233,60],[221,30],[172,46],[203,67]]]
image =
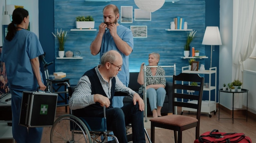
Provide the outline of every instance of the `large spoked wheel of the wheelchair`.
[[50,143],[92,143],[92,140],[81,119],[74,115],[62,115],[54,121]]

